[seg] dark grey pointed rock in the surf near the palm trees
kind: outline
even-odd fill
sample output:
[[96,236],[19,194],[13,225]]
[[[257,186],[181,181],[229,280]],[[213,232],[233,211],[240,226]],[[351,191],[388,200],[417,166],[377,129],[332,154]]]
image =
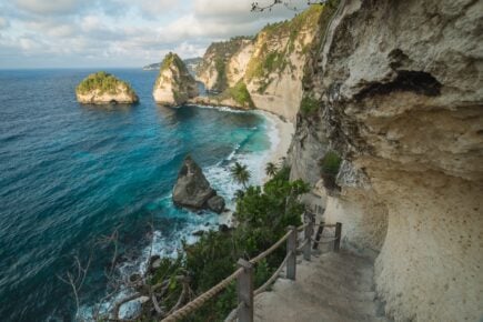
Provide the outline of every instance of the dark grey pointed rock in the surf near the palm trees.
[[224,200],[217,195],[201,168],[191,157],[184,159],[173,189],[173,202],[189,209],[210,209],[217,213],[224,210]]

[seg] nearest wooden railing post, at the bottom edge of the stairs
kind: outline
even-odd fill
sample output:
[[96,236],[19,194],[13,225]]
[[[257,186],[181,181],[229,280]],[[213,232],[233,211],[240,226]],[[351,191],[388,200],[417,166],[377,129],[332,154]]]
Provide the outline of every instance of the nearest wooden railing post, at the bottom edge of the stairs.
[[240,259],[238,261],[240,268],[243,268],[243,273],[238,276],[238,321],[253,322],[253,264]]

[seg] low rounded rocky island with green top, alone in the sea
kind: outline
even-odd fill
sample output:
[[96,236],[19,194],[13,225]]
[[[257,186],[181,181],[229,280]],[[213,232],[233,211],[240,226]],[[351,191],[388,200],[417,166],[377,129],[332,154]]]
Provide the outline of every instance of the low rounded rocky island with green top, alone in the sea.
[[131,104],[139,101],[129,83],[104,71],[91,73],[76,88],[78,102],[84,104]]

